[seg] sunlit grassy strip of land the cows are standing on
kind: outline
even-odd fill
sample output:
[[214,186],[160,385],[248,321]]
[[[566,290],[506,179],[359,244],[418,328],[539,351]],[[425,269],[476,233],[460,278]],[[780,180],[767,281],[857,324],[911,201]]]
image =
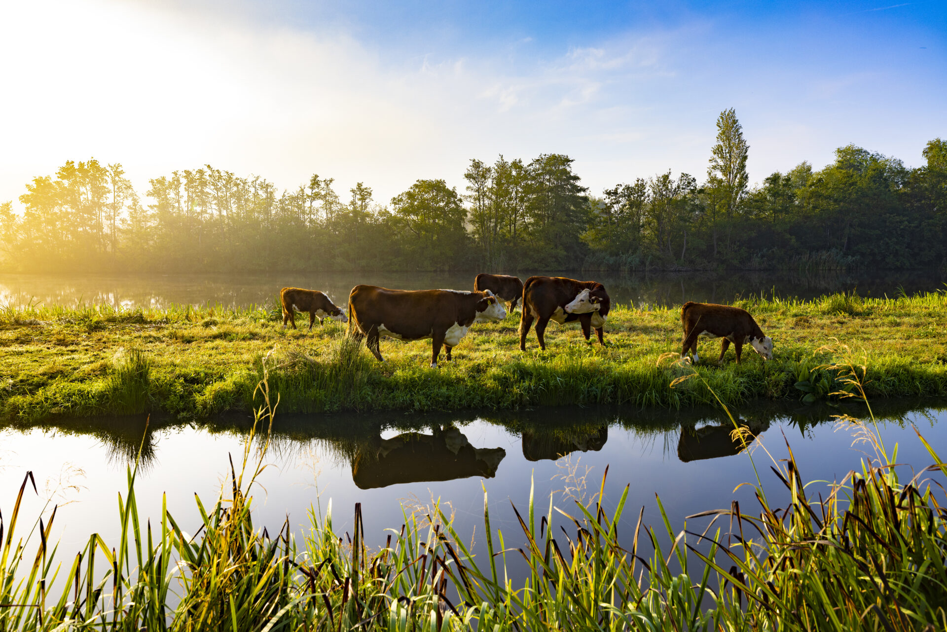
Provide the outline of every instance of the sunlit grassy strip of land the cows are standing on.
[[[947,294],[902,298],[831,295],[814,300],[747,299],[776,341],[762,363],[747,349],[722,368],[719,343],[702,343],[703,381],[678,388],[679,308],[618,306],[604,348],[578,326],[547,330],[547,350],[530,335],[518,350],[518,313],[478,325],[453,363],[429,369],[430,341],[386,340],[377,363],[327,320],[309,333],[280,328],[275,305],[250,309],[107,306],[8,307],[0,311],[0,416],[36,421],[53,415],[164,412],[207,417],[253,406],[264,366],[281,410],[456,410],[484,407],[712,404],[754,398],[814,403],[844,385],[835,363],[854,361],[872,375],[870,397],[947,395]],[[303,317],[299,317],[300,324]],[[844,344],[843,344],[844,343]]]

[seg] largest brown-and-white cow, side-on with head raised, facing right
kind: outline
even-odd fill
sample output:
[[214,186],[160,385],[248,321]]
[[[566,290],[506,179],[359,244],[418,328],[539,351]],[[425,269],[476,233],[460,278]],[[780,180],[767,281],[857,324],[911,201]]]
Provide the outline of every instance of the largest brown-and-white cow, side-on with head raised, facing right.
[[503,320],[503,303],[486,292],[459,290],[388,290],[375,285],[356,285],[348,295],[348,332],[367,336],[368,351],[384,361],[379,337],[398,340],[431,338],[431,367],[438,367],[440,347],[451,349],[467,335],[471,325],[488,320]]

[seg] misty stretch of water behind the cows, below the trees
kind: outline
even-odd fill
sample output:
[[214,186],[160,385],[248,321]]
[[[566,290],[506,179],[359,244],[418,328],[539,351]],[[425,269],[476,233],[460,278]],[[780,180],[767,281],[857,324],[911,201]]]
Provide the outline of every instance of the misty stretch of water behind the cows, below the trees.
[[[858,291],[862,296],[895,296],[900,291],[943,289],[947,272],[928,270],[826,272],[682,272],[619,275],[601,272],[521,272],[565,275],[599,280],[613,301],[679,304],[686,300],[728,302],[738,296],[764,294],[813,298],[833,292]],[[68,276],[0,274],[0,305],[40,301],[46,305],[78,302],[109,303],[125,307],[164,307],[170,303],[247,306],[273,300],[286,286],[325,291],[336,304],[343,304],[348,291],[358,283],[395,289],[473,289],[475,272],[464,273],[273,273],[269,275],[174,275],[174,276]]]

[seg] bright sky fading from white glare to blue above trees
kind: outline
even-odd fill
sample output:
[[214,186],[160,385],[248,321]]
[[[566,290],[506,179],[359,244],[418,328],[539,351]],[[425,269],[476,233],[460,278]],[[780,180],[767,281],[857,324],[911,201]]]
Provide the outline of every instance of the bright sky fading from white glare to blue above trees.
[[[736,109],[760,182],[947,137],[947,2],[0,0],[0,202],[66,160],[210,164],[386,204],[472,158],[565,153],[590,193],[706,178]],[[18,204],[18,203],[17,203]]]

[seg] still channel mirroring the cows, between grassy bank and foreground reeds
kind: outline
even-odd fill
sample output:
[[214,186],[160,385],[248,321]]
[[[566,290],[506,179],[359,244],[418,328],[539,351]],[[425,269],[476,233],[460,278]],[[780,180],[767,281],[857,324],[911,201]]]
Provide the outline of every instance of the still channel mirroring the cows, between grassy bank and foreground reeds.
[[[875,405],[882,439],[899,444],[906,474],[931,458],[912,429],[940,454],[947,454],[947,403],[886,401]],[[756,513],[749,486],[753,462],[773,506],[785,506],[785,489],[769,469],[787,457],[790,442],[803,479],[840,480],[874,454],[832,415],[863,415],[864,406],[803,406],[759,403],[736,411],[757,433],[752,461],[738,454],[726,418],[713,409],[682,411],[628,408],[549,408],[504,413],[405,415],[320,415],[277,417],[266,469],[254,490],[255,524],[276,533],[284,520],[296,533],[310,524],[309,513],[326,515],[331,503],[338,533],[351,533],[354,503],[364,511],[366,540],[379,546],[385,529],[398,529],[404,511],[440,499],[455,516],[458,533],[483,544],[484,490],[494,529],[507,546],[522,535],[511,503],[526,509],[530,479],[537,512],[545,514],[549,495],[563,511],[575,513],[574,499],[599,490],[606,466],[605,502],[614,508],[630,485],[621,533],[634,532],[638,511],[661,529],[655,495],[661,497],[675,530],[687,515],[726,509],[740,500]],[[145,419],[62,420],[33,427],[0,429],[0,511],[9,515],[27,470],[39,494],[27,487],[19,530],[52,503],[60,505],[52,530],[63,559],[79,551],[90,533],[106,542],[118,537],[117,495],[126,490],[126,467],[143,445],[136,495],[141,519],[157,519],[162,495],[170,513],[189,533],[199,519],[194,495],[205,504],[229,485],[228,455],[241,462],[249,420],[228,417],[206,424]],[[143,441],[144,439],[144,441]],[[253,448],[253,446],[251,446]],[[767,454],[767,451],[769,454]],[[818,491],[818,487],[812,488]],[[814,492],[813,492],[814,493]],[[46,518],[48,519],[48,517]],[[152,524],[154,524],[152,522]],[[553,522],[559,528],[564,518]]]

